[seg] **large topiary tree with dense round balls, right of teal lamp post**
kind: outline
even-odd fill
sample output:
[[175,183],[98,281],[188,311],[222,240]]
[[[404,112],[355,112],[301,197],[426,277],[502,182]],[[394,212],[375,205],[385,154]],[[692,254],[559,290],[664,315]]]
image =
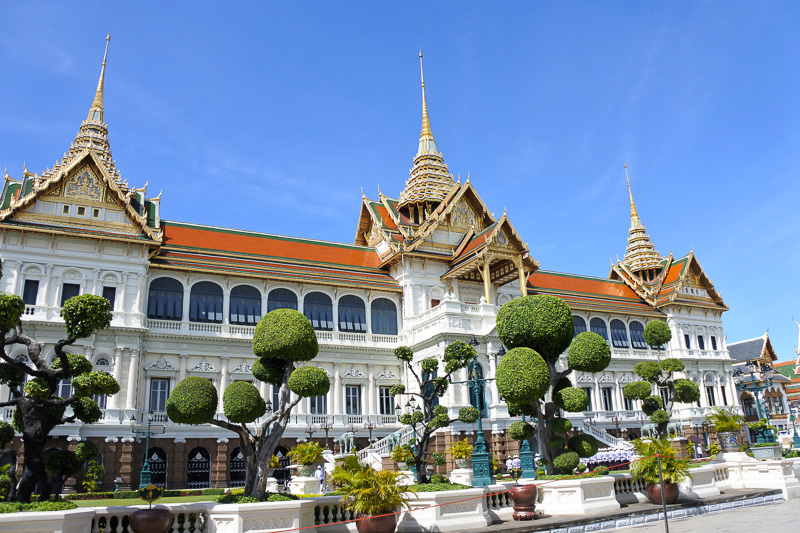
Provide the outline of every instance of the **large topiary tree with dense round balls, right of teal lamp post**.
[[[581,412],[589,405],[586,393],[573,387],[567,376],[573,370],[604,370],[611,362],[608,343],[590,332],[573,338],[569,306],[547,295],[525,296],[503,305],[497,313],[497,334],[510,348],[497,367],[497,390],[510,412],[537,418],[537,440],[547,473],[571,473],[580,457],[594,455],[597,441],[589,435],[569,437],[572,424],[559,417],[559,409]],[[566,361],[560,361],[567,349]]]

